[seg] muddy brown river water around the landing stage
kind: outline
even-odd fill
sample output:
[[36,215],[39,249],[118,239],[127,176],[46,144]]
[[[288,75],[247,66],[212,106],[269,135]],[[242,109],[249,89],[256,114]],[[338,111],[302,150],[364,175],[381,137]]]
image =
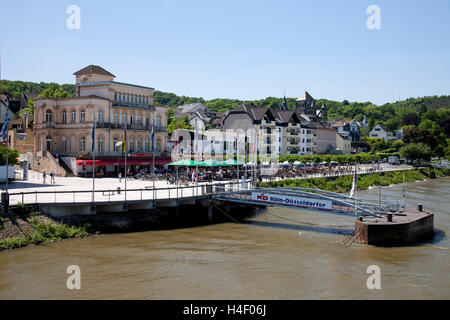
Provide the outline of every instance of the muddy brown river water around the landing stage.
[[[407,206],[435,213],[433,241],[414,246],[344,246],[352,218],[270,208],[248,223],[0,252],[0,299],[449,299],[449,194],[450,179],[406,184]],[[378,189],[358,196],[378,199]],[[69,265],[80,267],[81,290],[66,288]],[[380,267],[379,290],[367,288],[369,265]]]

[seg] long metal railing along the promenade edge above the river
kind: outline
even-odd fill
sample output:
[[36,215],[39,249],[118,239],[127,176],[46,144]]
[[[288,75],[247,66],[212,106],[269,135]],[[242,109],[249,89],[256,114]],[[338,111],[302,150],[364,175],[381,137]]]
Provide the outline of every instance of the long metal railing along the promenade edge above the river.
[[199,183],[184,184],[178,187],[166,188],[144,188],[144,189],[107,189],[95,190],[94,199],[92,199],[92,190],[62,190],[62,191],[28,191],[9,193],[9,204],[17,205],[19,202],[25,205],[39,204],[77,204],[77,203],[112,203],[124,201],[164,201],[176,200],[190,197],[206,197],[220,193],[236,192],[250,188],[250,180],[245,182],[244,188],[242,181],[226,183]]

